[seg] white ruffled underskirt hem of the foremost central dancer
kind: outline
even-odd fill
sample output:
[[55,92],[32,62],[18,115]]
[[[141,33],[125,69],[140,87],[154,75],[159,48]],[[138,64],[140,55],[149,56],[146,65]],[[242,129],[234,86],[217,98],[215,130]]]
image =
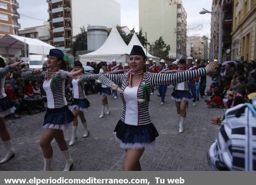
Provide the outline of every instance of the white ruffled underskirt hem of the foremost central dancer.
[[113,133],[115,135],[116,141],[119,143],[120,147],[123,149],[148,149],[148,150],[153,150],[155,147],[157,147],[156,141],[153,141],[151,143],[123,143],[121,139],[116,137],[116,133]]

